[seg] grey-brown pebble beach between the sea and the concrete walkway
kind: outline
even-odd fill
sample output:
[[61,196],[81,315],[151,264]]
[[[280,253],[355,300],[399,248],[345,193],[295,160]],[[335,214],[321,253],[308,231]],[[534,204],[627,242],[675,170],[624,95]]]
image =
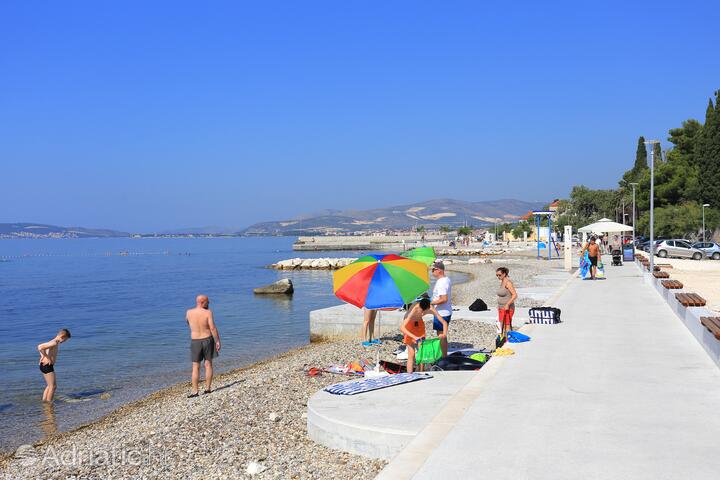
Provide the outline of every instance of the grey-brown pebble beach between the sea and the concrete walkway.
[[[494,306],[497,280],[492,264],[453,263],[471,279],[455,285],[457,305],[475,298]],[[509,262],[516,286],[550,268],[548,262]],[[450,268],[450,267],[449,267]],[[528,306],[522,298],[519,306]],[[430,325],[427,325],[430,330]],[[494,326],[452,324],[453,340],[476,348],[494,346]],[[400,335],[383,338],[381,359]],[[0,459],[3,478],[374,478],[385,462],[320,446],[306,434],[306,405],[317,390],[348,377],[311,367],[373,359],[359,341],[313,343],[216,378],[215,391],[187,399],[187,384],[159,391],[73,431],[20,447]],[[256,473],[248,473],[250,471]]]

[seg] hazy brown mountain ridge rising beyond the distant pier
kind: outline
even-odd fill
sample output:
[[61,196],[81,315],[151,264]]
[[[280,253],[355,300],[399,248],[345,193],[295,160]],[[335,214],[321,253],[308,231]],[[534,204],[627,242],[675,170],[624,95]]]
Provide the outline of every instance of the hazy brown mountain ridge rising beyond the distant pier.
[[244,235],[346,234],[357,231],[400,230],[417,226],[439,228],[464,224],[483,226],[493,222],[513,222],[529,210],[542,208],[542,202],[491,200],[466,202],[439,199],[372,210],[323,210],[317,215],[256,223]]

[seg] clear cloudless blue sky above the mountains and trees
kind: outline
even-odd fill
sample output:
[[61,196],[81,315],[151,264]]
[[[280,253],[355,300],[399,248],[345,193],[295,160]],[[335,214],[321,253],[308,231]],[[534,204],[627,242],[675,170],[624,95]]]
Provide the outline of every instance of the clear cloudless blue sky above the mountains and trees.
[[714,2],[0,5],[0,222],[245,226],[616,185],[704,120]]

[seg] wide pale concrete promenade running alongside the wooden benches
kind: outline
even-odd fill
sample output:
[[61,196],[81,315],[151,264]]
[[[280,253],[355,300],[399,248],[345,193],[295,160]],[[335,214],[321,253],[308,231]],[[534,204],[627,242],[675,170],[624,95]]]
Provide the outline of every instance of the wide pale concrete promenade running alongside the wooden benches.
[[636,265],[573,280],[378,478],[720,478],[720,369]]

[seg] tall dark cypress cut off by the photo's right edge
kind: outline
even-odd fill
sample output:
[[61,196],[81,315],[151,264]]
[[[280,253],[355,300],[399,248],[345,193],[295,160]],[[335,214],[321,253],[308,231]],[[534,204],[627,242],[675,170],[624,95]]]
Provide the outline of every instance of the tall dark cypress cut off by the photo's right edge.
[[700,199],[713,208],[720,207],[720,90],[715,92],[705,113],[705,126],[699,135],[696,158],[700,168]]

